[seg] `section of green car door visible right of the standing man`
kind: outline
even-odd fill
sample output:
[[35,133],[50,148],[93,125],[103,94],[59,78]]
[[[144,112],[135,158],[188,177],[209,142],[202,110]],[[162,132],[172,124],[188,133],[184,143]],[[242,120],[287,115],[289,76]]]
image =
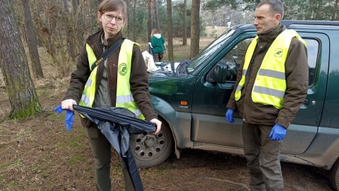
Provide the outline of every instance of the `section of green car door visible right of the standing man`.
[[307,42],[309,88],[304,104],[287,129],[282,153],[302,154],[318,132],[326,95],[329,63],[329,39],[324,33],[297,31]]

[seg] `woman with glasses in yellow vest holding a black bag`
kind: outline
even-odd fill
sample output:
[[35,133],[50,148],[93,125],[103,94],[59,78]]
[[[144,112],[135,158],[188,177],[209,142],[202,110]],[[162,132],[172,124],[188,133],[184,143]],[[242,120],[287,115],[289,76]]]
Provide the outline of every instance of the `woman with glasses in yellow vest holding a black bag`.
[[[76,71],[71,74],[69,88],[61,107],[72,111],[73,104],[97,108],[127,108],[134,112],[136,117],[155,123],[157,129],[153,134],[157,134],[161,122],[157,120],[157,114],[151,104],[148,74],[140,45],[124,39],[107,59],[95,64],[106,50],[121,40],[121,29],[127,22],[126,18],[124,1],[104,0],[99,4],[97,21],[102,25],[102,29],[86,40],[78,57]],[[111,190],[111,144],[93,122],[81,116],[81,124],[95,157],[96,190]],[[124,163],[121,165],[125,190],[135,190],[126,166]]]

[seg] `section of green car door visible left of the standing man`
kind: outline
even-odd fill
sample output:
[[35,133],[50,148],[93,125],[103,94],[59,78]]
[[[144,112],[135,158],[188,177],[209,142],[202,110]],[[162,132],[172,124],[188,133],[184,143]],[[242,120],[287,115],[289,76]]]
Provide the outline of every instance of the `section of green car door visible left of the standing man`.
[[[218,55],[210,60],[209,67],[198,75],[192,103],[193,141],[242,147],[242,119],[235,113],[235,122],[231,124],[225,120],[225,112],[237,80],[237,67],[244,59],[246,49],[255,35],[256,33],[242,33],[227,43],[228,47],[220,47]],[[211,83],[206,80],[215,64],[230,67],[225,83]]]

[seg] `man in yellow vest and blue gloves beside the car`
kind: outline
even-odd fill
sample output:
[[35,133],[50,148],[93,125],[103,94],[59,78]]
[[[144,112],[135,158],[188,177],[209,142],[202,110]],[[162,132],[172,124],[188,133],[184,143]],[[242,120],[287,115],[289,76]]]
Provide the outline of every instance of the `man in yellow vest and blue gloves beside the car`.
[[249,45],[227,103],[226,120],[243,119],[244,155],[251,190],[284,190],[280,149],[287,128],[307,96],[306,43],[280,24],[283,4],[264,0],[254,13],[257,36]]

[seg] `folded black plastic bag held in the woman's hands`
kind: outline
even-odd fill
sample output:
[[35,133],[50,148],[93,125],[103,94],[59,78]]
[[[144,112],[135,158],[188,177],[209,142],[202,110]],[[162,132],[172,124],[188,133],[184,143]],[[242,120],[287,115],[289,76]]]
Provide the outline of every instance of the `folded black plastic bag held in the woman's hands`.
[[129,135],[155,132],[155,124],[136,118],[133,112],[126,108],[88,108],[73,105],[74,110],[97,124],[102,134],[114,147],[123,159],[136,191],[143,190],[143,184],[134,161],[133,153],[129,149]]

